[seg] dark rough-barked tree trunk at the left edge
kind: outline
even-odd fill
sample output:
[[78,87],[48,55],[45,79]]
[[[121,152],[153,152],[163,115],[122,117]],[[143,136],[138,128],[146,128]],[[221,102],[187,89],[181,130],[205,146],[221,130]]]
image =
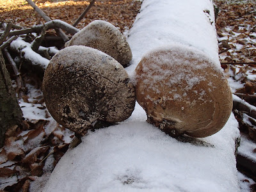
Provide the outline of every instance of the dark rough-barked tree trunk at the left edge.
[[19,125],[22,111],[12,87],[10,74],[5,67],[3,54],[0,51],[0,147],[3,146],[4,134],[10,127]]

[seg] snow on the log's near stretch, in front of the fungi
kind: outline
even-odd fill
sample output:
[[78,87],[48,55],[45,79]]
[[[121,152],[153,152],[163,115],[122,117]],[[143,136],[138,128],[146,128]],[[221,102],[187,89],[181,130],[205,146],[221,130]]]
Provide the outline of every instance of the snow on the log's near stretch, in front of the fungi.
[[239,191],[233,115],[202,140],[214,147],[180,143],[145,120],[136,105],[125,122],[90,132],[61,158],[44,191]]

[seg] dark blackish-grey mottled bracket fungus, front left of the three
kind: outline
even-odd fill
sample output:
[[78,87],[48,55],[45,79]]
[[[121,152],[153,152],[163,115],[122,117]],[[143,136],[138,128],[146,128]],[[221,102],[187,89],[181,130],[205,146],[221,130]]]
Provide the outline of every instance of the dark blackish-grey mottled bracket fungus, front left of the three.
[[135,90],[124,67],[91,47],[58,52],[45,70],[42,87],[52,117],[77,134],[121,122],[134,110]]

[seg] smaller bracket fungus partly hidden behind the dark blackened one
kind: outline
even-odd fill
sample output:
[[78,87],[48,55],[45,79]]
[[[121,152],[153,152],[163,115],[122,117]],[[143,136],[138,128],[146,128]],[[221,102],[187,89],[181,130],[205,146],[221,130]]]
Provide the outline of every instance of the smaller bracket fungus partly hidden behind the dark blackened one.
[[104,20],[94,20],[76,33],[66,44],[84,45],[105,52],[121,65],[127,66],[132,60],[132,52],[125,36],[113,24]]

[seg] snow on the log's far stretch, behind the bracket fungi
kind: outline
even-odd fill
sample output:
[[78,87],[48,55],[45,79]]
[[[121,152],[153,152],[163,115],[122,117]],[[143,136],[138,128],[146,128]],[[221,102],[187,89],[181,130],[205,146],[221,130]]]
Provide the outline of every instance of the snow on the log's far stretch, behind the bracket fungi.
[[[211,0],[143,1],[128,36],[136,65],[146,52],[173,43],[195,47],[220,63]],[[136,65],[127,68],[129,74]]]

